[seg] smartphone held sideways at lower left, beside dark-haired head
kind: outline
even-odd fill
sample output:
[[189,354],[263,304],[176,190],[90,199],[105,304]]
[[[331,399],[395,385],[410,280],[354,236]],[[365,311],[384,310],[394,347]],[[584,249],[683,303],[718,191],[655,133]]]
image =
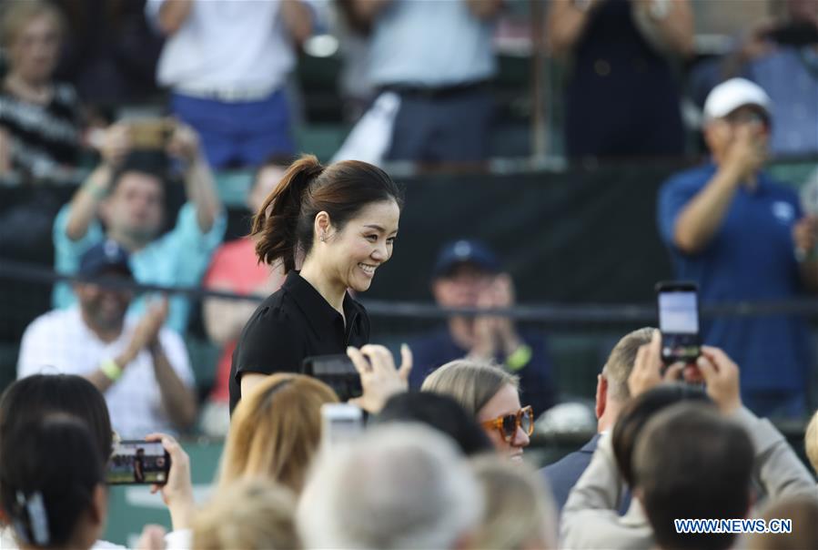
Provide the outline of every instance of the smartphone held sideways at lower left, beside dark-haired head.
[[162,442],[121,441],[114,445],[106,483],[111,485],[167,484],[170,455]]

